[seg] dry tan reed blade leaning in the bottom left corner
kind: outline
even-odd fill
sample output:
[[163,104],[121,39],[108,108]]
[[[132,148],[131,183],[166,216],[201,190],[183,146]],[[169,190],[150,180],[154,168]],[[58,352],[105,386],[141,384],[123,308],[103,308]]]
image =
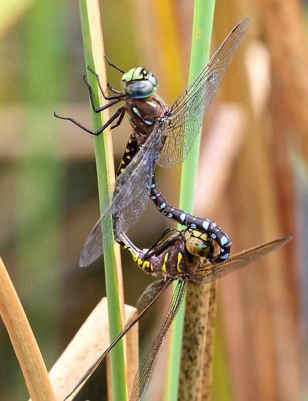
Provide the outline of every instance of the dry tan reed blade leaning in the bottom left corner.
[[6,267],[0,258],[0,315],[33,401],[57,401],[46,366]]

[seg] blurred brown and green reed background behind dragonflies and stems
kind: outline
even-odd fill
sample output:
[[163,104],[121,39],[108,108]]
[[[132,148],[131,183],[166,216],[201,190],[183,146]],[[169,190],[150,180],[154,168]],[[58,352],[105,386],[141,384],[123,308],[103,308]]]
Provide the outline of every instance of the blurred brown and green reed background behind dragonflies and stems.
[[[238,21],[249,17],[250,27],[205,120],[195,212],[229,234],[233,253],[284,235],[293,241],[220,280],[213,399],[308,399],[307,4],[216,3],[211,54]],[[169,105],[188,84],[193,8],[193,0],[101,2],[106,54],[123,70],[151,69]],[[2,2],[0,36],[0,252],[50,368],[105,295],[102,260],[78,268],[99,216],[93,139],[53,117],[91,125],[78,3]],[[107,74],[119,88],[120,74]],[[126,119],[112,132],[116,167],[130,132]],[[157,180],[177,206],[180,168],[157,168]],[[169,227],[149,203],[129,234],[143,248]],[[123,277],[134,304],[151,279],[124,253]],[[162,298],[140,322],[141,354]],[[26,400],[3,324],[0,344],[0,398]],[[163,388],[164,354],[145,399]],[[104,369],[76,400],[104,399]]]

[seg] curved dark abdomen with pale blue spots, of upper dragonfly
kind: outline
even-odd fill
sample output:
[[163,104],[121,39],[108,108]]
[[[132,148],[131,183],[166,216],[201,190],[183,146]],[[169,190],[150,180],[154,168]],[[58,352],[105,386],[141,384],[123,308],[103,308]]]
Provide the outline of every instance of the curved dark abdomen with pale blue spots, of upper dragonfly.
[[150,197],[156,208],[170,219],[177,223],[190,227],[193,230],[209,234],[215,243],[219,246],[220,252],[216,255],[210,254],[208,259],[212,263],[220,263],[229,257],[231,249],[231,240],[227,234],[213,221],[209,219],[201,219],[197,216],[190,215],[181,209],[170,206],[166,198],[156,187],[155,174],[152,175],[152,183]]

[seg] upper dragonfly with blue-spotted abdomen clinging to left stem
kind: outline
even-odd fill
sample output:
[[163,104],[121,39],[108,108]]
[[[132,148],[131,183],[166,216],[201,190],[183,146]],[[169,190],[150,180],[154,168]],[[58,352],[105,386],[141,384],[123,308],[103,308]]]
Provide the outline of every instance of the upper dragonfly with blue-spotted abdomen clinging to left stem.
[[[104,98],[110,101],[105,106],[96,108],[92,89],[84,77],[92,107],[98,113],[120,101],[124,102],[124,106],[121,106],[96,132],[92,132],[73,118],[59,117],[55,114],[59,118],[72,121],[92,135],[99,135],[114,121],[116,122],[111,125],[111,129],[117,127],[126,113],[133,129],[117,173],[111,200],[108,199],[103,216],[87,239],[80,258],[81,266],[87,266],[97,259],[105,249],[113,244],[114,239],[118,239],[119,232],[127,233],[143,214],[149,196],[157,209],[166,217],[212,237],[217,244],[218,253],[210,254],[209,261],[220,263],[228,258],[231,241],[226,233],[209,219],[200,219],[171,207],[157,189],[155,167],[156,164],[165,168],[177,167],[187,157],[200,132],[204,116],[244,39],[248,25],[249,20],[246,18],[233,28],[209,63],[171,108],[155,94],[158,81],[150,71],[143,67],[136,67],[125,73],[107,59],[112,67],[123,74],[121,84],[124,92],[118,91],[108,84],[108,88],[115,95],[106,96],[98,75],[89,68],[96,75]],[[105,219],[109,215],[113,216],[113,226],[117,226],[117,229],[114,229],[114,239],[112,236],[109,238],[106,234],[111,231],[106,226],[110,224],[110,219]],[[104,232],[103,241],[102,232]]]

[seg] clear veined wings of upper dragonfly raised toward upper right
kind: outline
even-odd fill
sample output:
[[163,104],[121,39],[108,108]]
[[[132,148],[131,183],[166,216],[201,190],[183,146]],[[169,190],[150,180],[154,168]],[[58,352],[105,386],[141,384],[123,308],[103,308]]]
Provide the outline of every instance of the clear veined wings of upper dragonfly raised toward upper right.
[[233,28],[207,66],[173,104],[164,127],[167,138],[158,160],[161,167],[177,167],[186,159],[248,26],[245,18]]

